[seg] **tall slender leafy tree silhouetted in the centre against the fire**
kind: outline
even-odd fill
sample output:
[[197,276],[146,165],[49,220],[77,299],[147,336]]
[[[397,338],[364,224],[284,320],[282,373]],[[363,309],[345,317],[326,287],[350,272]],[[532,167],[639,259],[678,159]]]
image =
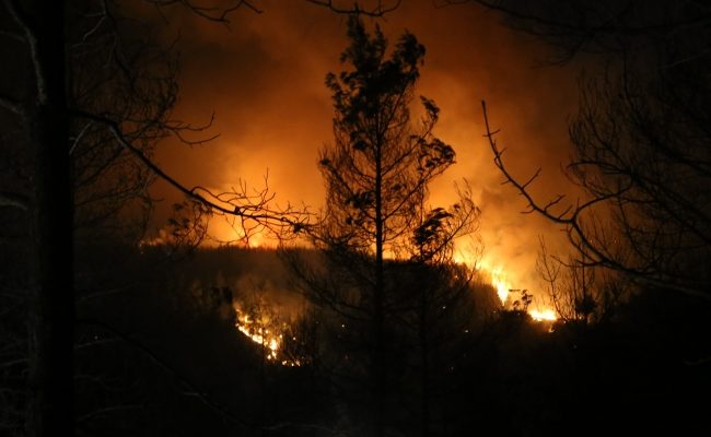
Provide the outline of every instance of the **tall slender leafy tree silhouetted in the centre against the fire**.
[[454,163],[455,153],[433,134],[439,108],[432,101],[420,97],[420,123],[411,121],[424,47],[405,33],[387,58],[381,28],[369,34],[358,16],[350,17],[348,36],[341,61],[353,69],[326,76],[335,108],[335,141],[318,163],[326,211],[308,229],[325,267],[317,274],[304,265],[295,270],[312,300],[334,316],[334,341],[342,347],[337,371],[366,378],[372,426],[383,435],[394,420],[386,418],[388,399],[401,359],[393,346],[397,314],[415,310],[419,298],[418,291],[397,291],[408,273],[395,260],[447,260],[454,238],[473,231],[478,209],[467,190],[450,209],[426,204],[428,184]]

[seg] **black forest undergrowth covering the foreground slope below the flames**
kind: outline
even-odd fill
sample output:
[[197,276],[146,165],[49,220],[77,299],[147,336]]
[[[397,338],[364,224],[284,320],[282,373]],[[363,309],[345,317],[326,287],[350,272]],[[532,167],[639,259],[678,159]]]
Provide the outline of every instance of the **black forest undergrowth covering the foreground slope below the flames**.
[[[368,341],[366,331],[356,324],[340,328],[329,320],[333,316],[313,312],[302,327],[316,327],[317,358],[302,367],[264,366],[261,347],[235,330],[233,312],[220,311],[225,286],[235,299],[254,293],[246,284],[265,281],[271,284],[267,288],[284,287],[273,298],[291,293],[288,270],[276,252],[200,250],[178,264],[166,263],[160,250],[135,256],[131,277],[142,286],[86,298],[81,306],[82,318],[101,323],[80,329],[79,343],[88,344],[77,351],[79,430],[100,436],[359,435],[358,423],[347,417],[368,413],[369,390],[362,380],[342,375],[358,375],[365,363],[368,354],[352,342]],[[94,259],[98,272],[105,259]],[[403,297],[427,285],[420,269],[391,265]],[[275,280],[280,272],[282,279]],[[241,281],[244,275],[249,281]],[[430,435],[704,428],[703,403],[696,401],[711,389],[703,331],[711,315],[703,306],[650,291],[601,322],[541,323],[518,310],[482,310],[485,296],[494,294],[491,287],[477,285],[467,293],[469,307],[442,310],[444,318],[428,332],[434,345]],[[403,322],[388,338],[397,345],[388,358],[397,376],[388,381],[391,392],[398,393],[389,400],[391,426],[418,435],[417,333]],[[335,373],[341,377],[334,379]]]

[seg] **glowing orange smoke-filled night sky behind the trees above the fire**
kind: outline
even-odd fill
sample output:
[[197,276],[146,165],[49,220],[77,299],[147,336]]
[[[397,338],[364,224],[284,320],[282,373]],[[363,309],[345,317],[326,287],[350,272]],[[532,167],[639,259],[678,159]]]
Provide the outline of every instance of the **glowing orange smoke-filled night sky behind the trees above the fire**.
[[[229,28],[168,13],[166,32],[179,29],[180,35],[175,116],[200,123],[214,113],[211,133],[220,138],[191,149],[162,144],[158,160],[182,182],[215,189],[240,179],[261,187],[268,172],[277,200],[317,210],[324,199],[318,150],[331,141],[333,107],[324,78],[342,70],[338,59],[348,44],[347,17],[302,0],[257,4],[261,14],[238,10]],[[418,93],[440,106],[435,133],[457,153],[457,164],[431,187],[432,203],[451,203],[454,181],[467,178],[482,210],[485,259],[504,268],[512,286],[535,290],[538,235],[560,233],[539,217],[520,214],[525,203],[501,185],[482,138],[480,101],[489,105],[493,128],[501,129],[499,142],[508,147],[514,175],[527,177],[543,167],[534,192],[566,192],[560,167],[569,153],[567,121],[575,108],[576,69],[544,66],[548,49],[500,19],[473,4],[436,8],[432,0],[406,0],[377,23],[392,43],[408,29],[427,48]],[[165,204],[179,200],[161,184],[154,194]]]

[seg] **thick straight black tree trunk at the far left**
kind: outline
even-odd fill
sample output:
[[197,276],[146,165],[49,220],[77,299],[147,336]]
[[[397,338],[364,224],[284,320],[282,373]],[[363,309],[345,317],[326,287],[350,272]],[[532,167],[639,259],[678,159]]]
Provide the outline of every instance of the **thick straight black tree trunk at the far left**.
[[[32,90],[25,129],[33,153],[25,430],[30,437],[73,435],[73,239],[63,1],[16,11],[30,46]],[[16,19],[18,20],[18,19]]]

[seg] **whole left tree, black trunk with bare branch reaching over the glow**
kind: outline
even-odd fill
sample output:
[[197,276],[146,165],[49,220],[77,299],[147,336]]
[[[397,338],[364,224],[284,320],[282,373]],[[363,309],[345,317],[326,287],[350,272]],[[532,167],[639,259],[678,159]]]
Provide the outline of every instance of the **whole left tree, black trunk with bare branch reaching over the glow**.
[[[250,7],[246,1],[219,11],[189,1],[156,5],[168,3],[221,22],[233,10]],[[196,128],[170,118],[177,93],[173,59],[139,47],[119,11],[113,1],[3,1],[0,37],[18,57],[3,73],[18,86],[0,91],[3,125],[16,135],[3,142],[20,145],[24,166],[15,168],[18,179],[3,187],[0,203],[26,214],[21,222],[27,223],[32,252],[24,295],[28,436],[73,434],[75,225],[116,224],[114,217],[136,201],[148,211],[145,190],[154,177],[211,213],[271,229],[303,222],[299,213],[270,210],[268,191],[240,186],[212,193],[184,187],[152,161],[156,141],[167,135],[186,140],[183,134]]]

